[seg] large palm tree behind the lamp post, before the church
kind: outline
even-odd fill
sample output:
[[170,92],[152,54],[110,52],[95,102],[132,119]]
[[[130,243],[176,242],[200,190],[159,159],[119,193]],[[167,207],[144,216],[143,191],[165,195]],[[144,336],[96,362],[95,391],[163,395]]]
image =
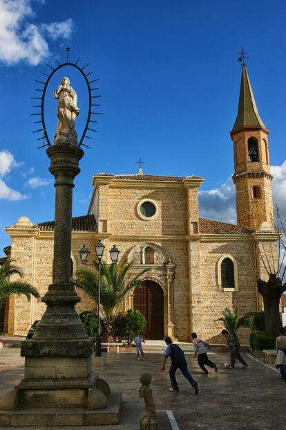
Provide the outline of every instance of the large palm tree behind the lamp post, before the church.
[[[113,321],[122,305],[126,294],[134,287],[141,287],[140,276],[149,269],[144,269],[133,278],[128,277],[133,262],[126,263],[119,269],[117,265],[101,264],[100,309],[104,317],[106,338],[113,339]],[[93,262],[96,270],[90,267],[79,267],[72,282],[97,303],[98,298],[98,262]]]

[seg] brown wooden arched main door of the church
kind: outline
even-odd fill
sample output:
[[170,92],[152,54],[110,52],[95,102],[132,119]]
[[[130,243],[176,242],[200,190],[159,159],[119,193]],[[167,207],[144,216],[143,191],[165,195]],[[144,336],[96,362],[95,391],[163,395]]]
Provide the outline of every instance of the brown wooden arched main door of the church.
[[144,280],[143,287],[133,292],[133,309],[139,310],[146,318],[145,339],[164,337],[164,298],[162,288],[153,280]]

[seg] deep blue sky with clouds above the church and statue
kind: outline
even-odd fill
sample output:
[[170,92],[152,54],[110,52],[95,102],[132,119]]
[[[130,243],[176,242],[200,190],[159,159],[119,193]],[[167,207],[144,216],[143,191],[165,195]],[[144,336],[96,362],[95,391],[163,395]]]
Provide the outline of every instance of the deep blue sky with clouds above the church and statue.
[[[274,199],[286,204],[286,3],[283,1],[0,0],[0,249],[3,227],[21,216],[53,220],[54,187],[44,150],[37,150],[32,96],[46,62],[81,58],[99,78],[99,133],[76,179],[73,215],[88,208],[97,172],[204,177],[200,213],[235,222],[229,130],[238,107],[241,46],[276,174]],[[68,74],[82,129],[86,90],[73,71],[53,78],[46,101],[53,137],[53,89]],[[35,103],[34,103],[35,104]],[[35,111],[35,109],[34,109]],[[88,144],[89,144],[88,143]],[[283,215],[284,212],[283,212]],[[286,224],[286,223],[285,223]],[[0,251],[1,252],[1,251]]]

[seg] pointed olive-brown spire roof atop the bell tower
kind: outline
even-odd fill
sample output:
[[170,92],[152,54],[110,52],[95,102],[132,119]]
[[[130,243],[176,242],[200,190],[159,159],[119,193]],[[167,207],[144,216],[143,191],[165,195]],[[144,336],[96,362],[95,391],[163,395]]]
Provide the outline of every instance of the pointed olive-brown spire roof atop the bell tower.
[[236,132],[243,127],[263,127],[263,120],[258,114],[258,109],[251,89],[247,68],[242,64],[242,74],[240,82],[240,94],[238,102],[238,115],[231,132]]

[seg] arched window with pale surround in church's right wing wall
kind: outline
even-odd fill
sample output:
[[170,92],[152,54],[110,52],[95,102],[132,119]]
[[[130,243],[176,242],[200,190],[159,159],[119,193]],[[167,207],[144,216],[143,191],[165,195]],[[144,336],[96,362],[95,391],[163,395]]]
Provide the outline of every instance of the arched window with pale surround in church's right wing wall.
[[238,291],[238,265],[230,254],[218,260],[218,291]]

